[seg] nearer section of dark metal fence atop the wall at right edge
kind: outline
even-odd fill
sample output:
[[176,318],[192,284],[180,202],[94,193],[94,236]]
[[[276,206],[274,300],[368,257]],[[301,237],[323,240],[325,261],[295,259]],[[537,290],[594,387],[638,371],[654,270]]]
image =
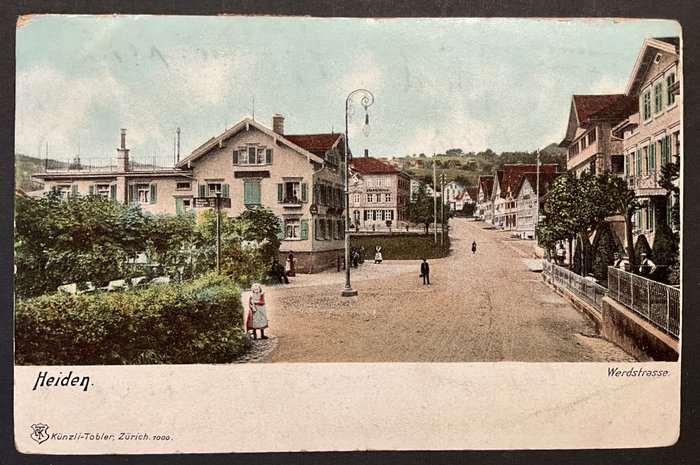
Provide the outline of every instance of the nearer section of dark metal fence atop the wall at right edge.
[[608,296],[667,334],[680,334],[681,291],[627,271],[608,267]]

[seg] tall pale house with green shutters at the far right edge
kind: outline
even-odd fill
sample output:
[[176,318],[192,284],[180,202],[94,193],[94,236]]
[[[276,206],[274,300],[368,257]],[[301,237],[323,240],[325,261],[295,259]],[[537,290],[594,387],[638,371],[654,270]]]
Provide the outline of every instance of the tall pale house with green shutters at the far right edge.
[[681,64],[678,37],[646,39],[627,84],[635,111],[613,128],[623,140],[624,174],[642,209],[634,216],[635,236],[653,244],[658,226],[673,224],[679,199],[659,185],[661,168],[681,157]]

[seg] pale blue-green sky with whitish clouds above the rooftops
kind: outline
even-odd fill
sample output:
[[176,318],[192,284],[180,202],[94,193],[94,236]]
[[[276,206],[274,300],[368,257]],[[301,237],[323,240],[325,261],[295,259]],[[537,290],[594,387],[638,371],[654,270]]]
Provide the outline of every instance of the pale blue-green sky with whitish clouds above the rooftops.
[[[172,161],[252,116],[344,132],[357,155],[532,151],[564,136],[571,95],[623,93],[665,20],[37,16],[17,29],[15,151]],[[254,101],[254,106],[253,106]]]

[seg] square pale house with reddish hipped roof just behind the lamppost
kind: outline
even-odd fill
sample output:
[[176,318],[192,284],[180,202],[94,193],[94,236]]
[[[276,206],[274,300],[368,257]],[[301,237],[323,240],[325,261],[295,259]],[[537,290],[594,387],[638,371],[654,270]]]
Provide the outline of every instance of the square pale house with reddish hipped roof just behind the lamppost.
[[356,173],[350,183],[350,221],[356,228],[382,229],[388,224],[406,224],[411,200],[411,178],[378,158],[353,158],[351,170]]

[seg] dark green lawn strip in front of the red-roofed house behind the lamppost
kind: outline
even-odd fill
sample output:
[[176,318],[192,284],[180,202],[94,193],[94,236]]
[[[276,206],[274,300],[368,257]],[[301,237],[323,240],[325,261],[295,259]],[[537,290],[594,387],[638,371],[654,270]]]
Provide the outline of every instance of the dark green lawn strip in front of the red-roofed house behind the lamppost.
[[444,244],[440,245],[440,235],[435,244],[433,234],[425,235],[372,235],[350,236],[352,249],[364,247],[365,260],[374,260],[374,247],[382,247],[384,260],[420,260],[423,258],[443,258],[450,252],[450,237],[445,234]]

